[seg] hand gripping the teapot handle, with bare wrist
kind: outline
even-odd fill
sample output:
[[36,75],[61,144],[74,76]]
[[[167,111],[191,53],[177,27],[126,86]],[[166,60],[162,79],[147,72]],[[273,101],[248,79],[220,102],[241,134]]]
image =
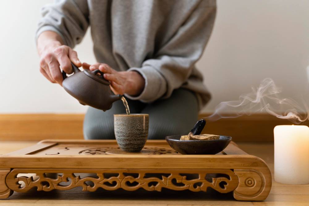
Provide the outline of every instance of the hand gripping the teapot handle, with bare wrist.
[[[43,34],[43,33],[42,33]],[[62,45],[60,41],[52,40],[41,35],[38,39],[38,51],[40,55],[40,72],[52,83],[58,83],[62,86],[62,73],[72,74],[71,62],[77,67],[82,63],[77,57],[77,53],[70,47]]]

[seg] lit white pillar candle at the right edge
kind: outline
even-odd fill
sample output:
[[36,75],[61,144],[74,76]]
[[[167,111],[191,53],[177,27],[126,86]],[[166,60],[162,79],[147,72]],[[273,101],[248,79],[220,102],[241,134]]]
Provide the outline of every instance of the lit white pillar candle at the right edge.
[[274,133],[274,178],[285,184],[309,183],[309,127],[278,125]]

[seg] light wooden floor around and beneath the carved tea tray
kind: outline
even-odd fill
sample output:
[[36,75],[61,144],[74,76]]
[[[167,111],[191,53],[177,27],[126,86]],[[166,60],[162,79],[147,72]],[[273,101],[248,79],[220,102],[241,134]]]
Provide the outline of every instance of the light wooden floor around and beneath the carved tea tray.
[[[36,144],[36,141],[0,141],[0,154],[9,153]],[[237,143],[245,152],[262,158],[273,174],[273,144]],[[243,202],[234,200],[232,194],[205,194],[204,192],[164,191],[147,192],[138,190],[82,192],[80,188],[69,191],[16,193],[0,205],[309,205],[309,184],[287,185],[273,181],[268,198],[263,202]]]

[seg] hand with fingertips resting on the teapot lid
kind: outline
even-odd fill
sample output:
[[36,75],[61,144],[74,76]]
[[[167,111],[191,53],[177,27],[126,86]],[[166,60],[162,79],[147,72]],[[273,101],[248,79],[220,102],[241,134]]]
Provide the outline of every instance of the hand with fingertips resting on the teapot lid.
[[91,71],[99,69],[103,72],[104,78],[111,82],[110,87],[115,94],[138,96],[145,87],[145,79],[136,71],[118,72],[103,63],[93,65],[83,63],[83,69],[90,69]]

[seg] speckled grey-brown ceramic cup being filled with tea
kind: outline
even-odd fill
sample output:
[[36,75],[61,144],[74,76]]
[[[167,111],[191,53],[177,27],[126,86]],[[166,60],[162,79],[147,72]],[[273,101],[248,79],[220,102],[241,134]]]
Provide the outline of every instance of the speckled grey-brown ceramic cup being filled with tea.
[[148,114],[114,115],[115,137],[119,147],[125,152],[140,152],[147,140]]

